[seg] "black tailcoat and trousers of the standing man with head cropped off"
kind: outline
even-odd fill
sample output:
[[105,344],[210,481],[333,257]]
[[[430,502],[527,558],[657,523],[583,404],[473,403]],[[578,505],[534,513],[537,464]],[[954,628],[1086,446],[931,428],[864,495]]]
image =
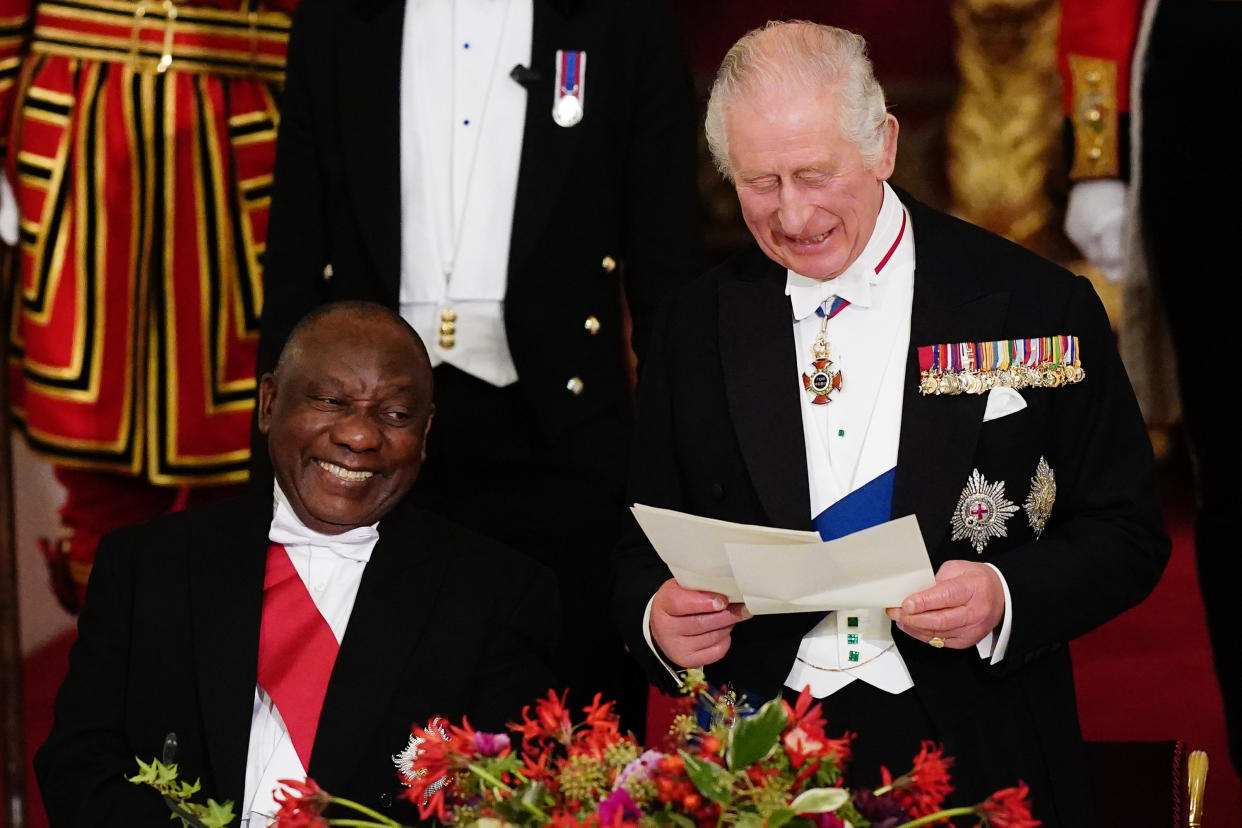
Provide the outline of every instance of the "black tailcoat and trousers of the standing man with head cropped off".
[[[397,305],[404,9],[310,0],[298,11],[260,372],[320,302]],[[635,710],[645,689],[605,608],[631,422],[622,294],[641,356],[661,297],[698,269],[693,96],[661,0],[534,0],[533,15],[504,297],[519,379],[497,389],[436,369],[438,413],[415,497],[549,564],[571,621],[564,678],[575,698],[628,695]],[[585,113],[571,128],[551,118],[556,50],[589,56]]]

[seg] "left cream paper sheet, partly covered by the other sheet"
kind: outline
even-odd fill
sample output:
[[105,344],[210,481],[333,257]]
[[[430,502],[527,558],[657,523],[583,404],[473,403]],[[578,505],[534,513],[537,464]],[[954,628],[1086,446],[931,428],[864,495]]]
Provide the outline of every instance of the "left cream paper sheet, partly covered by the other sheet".
[[687,590],[719,592],[733,602],[741,601],[741,591],[733,578],[725,544],[758,547],[821,544],[814,531],[734,524],[641,503],[631,510],[678,583]]

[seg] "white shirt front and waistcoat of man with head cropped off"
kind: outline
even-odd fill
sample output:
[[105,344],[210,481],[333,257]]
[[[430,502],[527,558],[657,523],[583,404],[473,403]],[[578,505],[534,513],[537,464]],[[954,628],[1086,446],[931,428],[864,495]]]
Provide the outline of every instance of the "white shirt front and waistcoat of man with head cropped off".
[[[401,46],[401,315],[450,362],[518,379],[504,331],[532,0],[407,0]],[[452,312],[452,344],[441,339]]]

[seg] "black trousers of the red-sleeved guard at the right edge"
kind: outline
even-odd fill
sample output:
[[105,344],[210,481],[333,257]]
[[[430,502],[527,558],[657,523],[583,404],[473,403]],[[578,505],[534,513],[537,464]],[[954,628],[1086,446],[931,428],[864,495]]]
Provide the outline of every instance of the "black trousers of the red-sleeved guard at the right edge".
[[1141,211],[1153,279],[1176,349],[1196,469],[1195,551],[1235,768],[1242,771],[1242,616],[1236,530],[1242,428],[1225,405],[1242,308],[1242,4],[1163,0],[1143,73]]

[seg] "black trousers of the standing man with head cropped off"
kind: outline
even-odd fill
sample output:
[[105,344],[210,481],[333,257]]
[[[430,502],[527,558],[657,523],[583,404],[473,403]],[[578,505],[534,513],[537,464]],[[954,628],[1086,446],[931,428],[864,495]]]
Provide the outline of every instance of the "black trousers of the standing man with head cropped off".
[[520,384],[498,389],[447,364],[436,367],[435,381],[436,416],[415,502],[556,574],[563,624],[553,667],[573,708],[600,693],[617,701],[622,726],[641,735],[647,683],[612,626],[609,598],[625,516],[627,412],[549,439]]

